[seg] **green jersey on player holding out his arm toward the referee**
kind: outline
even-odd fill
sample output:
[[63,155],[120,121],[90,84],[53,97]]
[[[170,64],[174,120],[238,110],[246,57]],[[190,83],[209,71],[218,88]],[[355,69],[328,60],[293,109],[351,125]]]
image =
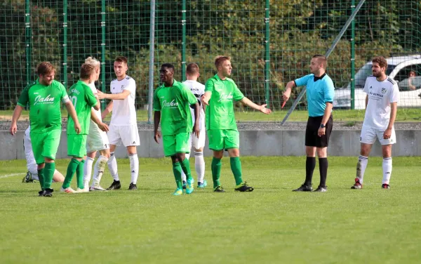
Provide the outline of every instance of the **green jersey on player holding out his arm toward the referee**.
[[221,80],[216,74],[206,81],[205,93],[212,93],[209,105],[206,107],[206,129],[236,130],[234,117],[234,100],[244,98],[232,79]]

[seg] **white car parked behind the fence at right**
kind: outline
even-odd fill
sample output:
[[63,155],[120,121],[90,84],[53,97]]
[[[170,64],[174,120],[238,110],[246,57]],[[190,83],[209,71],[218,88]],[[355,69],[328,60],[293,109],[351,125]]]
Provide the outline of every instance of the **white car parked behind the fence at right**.
[[[398,107],[421,107],[421,55],[407,55],[387,58],[386,74],[394,79],[399,86]],[[371,72],[372,62],[355,74],[355,104],[357,110],[366,108],[366,93],[363,92],[364,84]],[[415,72],[415,77],[410,77],[410,72]],[[351,84],[335,89],[333,108],[351,108]]]

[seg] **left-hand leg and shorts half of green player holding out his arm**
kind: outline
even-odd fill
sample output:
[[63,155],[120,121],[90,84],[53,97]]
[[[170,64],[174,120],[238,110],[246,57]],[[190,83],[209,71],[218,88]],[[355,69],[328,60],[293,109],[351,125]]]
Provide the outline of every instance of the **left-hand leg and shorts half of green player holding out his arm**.
[[213,159],[210,169],[212,170],[213,191],[225,192],[220,183],[222,157],[224,157],[225,131],[220,129],[208,130],[209,149],[213,150]]

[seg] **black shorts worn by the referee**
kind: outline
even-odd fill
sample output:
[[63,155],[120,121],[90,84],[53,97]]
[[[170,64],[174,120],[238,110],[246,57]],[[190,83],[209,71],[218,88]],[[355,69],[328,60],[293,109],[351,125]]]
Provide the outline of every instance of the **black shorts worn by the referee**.
[[318,132],[323,117],[309,117],[305,129],[305,145],[308,147],[327,147],[329,145],[330,133],[332,133],[333,117],[330,116],[326,123],[326,133],[319,137]]

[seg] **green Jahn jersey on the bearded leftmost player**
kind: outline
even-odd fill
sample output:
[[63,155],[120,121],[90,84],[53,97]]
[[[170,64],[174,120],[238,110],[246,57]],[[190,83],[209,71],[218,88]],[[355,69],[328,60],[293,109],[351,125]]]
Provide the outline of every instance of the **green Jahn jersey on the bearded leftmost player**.
[[55,129],[61,130],[60,100],[62,103],[67,103],[69,97],[65,86],[58,81],[53,81],[49,86],[45,86],[39,83],[39,79],[36,79],[22,91],[18,105],[26,107],[29,103],[31,132],[45,133]]

